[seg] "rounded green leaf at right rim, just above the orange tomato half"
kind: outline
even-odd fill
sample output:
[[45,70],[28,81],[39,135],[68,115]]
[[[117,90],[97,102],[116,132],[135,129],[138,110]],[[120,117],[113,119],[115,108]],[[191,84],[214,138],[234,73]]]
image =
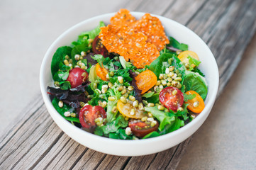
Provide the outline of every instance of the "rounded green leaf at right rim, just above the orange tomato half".
[[201,98],[206,98],[208,93],[206,81],[198,73],[187,71],[183,84],[186,86],[186,91],[196,91]]

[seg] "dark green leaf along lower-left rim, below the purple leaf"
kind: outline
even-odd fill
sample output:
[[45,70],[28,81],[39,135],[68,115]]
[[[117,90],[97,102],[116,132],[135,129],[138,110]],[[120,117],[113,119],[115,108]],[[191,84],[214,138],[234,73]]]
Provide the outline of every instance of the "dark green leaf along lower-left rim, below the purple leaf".
[[65,103],[63,103],[63,107],[60,108],[58,103],[60,100],[58,100],[56,97],[53,98],[52,100],[52,106],[56,109],[56,111],[58,113],[60,113],[60,115],[62,115],[63,118],[65,118],[66,120],[72,121],[72,122],[76,122],[76,123],[80,123],[79,118],[73,118],[73,117],[66,117],[64,115],[64,113],[66,111],[69,111],[70,113],[74,112],[73,109],[71,108],[71,106],[66,105]]

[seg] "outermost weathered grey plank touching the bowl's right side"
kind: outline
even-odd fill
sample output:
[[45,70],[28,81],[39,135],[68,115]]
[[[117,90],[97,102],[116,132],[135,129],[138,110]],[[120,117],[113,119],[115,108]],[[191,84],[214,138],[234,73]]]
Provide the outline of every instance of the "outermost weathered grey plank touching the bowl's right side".
[[250,39],[255,34],[255,8],[256,2],[252,0],[232,1],[225,13],[226,17],[221,18],[213,31],[214,36],[208,40],[208,45],[213,49],[219,67],[219,94],[223,91]]

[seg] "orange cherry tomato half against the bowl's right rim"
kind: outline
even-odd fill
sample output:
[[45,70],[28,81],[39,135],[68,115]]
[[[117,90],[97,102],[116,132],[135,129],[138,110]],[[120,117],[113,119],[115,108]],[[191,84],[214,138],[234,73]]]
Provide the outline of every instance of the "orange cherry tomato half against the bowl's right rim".
[[186,94],[196,94],[195,98],[185,102],[189,104],[187,108],[194,113],[201,113],[201,111],[204,110],[203,98],[201,98],[201,96],[198,93],[196,93],[196,91],[187,91]]

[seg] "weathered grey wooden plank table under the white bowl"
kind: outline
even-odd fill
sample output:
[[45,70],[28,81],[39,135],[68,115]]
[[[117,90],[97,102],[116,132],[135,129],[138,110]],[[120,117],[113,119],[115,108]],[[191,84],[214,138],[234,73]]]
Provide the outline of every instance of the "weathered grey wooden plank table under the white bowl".
[[[118,8],[155,13],[194,30],[216,57],[218,96],[256,30],[253,0],[137,0]],[[191,141],[190,137],[157,154],[117,157],[95,152],[65,135],[50,118],[39,91],[21,115],[0,139],[0,169],[176,169]]]

